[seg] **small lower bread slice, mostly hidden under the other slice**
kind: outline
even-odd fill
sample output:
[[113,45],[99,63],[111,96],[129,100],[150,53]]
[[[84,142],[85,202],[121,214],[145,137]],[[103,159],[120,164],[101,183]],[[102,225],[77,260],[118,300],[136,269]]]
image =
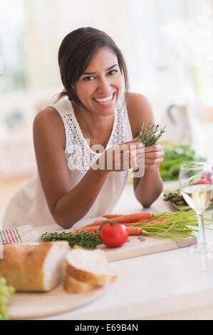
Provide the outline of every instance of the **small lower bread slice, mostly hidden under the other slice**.
[[66,274],[64,283],[63,283],[63,288],[68,292],[68,293],[83,293],[83,292],[88,292],[91,289],[95,289],[97,286],[93,284],[87,284],[84,282],[79,282],[79,280],[75,279],[74,277],[69,276]]

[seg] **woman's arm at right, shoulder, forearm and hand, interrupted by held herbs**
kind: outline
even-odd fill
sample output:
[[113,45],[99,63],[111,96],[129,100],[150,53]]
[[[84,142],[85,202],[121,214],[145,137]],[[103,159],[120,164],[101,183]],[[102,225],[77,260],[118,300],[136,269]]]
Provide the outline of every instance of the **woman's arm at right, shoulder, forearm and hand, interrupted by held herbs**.
[[[139,133],[142,122],[145,123],[145,126],[149,122],[155,123],[152,108],[145,96],[131,93],[127,107],[134,137]],[[163,183],[159,165],[162,163],[163,156],[161,145],[145,147],[144,175],[133,179],[135,197],[143,207],[150,207],[162,192]]]

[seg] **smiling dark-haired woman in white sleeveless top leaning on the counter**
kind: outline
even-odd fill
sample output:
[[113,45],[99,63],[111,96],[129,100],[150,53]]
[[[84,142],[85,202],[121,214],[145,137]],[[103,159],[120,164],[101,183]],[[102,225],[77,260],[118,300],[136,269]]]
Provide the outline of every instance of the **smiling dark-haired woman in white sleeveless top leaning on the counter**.
[[[33,121],[38,171],[10,200],[4,228],[57,223],[67,229],[82,218],[112,212],[128,168],[139,163],[141,143],[133,139],[142,121],[154,122],[147,99],[128,93],[122,53],[103,31],[88,27],[68,33],[59,48],[58,63],[64,90]],[[124,144],[129,157],[135,155],[135,165],[128,161],[124,167],[124,153],[108,157]],[[135,197],[144,207],[162,191],[163,155],[160,145],[145,148],[145,174],[134,177]]]

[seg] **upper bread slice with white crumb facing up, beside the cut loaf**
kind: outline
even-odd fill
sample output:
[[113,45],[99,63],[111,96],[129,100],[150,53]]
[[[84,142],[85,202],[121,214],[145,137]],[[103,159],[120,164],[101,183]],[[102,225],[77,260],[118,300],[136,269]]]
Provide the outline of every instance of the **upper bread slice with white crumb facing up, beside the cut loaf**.
[[100,249],[71,249],[66,256],[66,274],[86,284],[105,285],[117,276],[108,269],[105,252]]

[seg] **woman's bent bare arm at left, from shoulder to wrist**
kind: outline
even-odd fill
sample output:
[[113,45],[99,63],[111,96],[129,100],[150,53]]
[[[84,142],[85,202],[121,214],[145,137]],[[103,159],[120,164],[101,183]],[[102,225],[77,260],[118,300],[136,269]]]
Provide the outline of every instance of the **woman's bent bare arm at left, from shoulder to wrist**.
[[66,138],[63,121],[54,108],[46,108],[36,115],[33,142],[38,173],[51,215],[61,227],[71,228],[90,210],[107,174],[90,169],[71,190],[64,154]]

